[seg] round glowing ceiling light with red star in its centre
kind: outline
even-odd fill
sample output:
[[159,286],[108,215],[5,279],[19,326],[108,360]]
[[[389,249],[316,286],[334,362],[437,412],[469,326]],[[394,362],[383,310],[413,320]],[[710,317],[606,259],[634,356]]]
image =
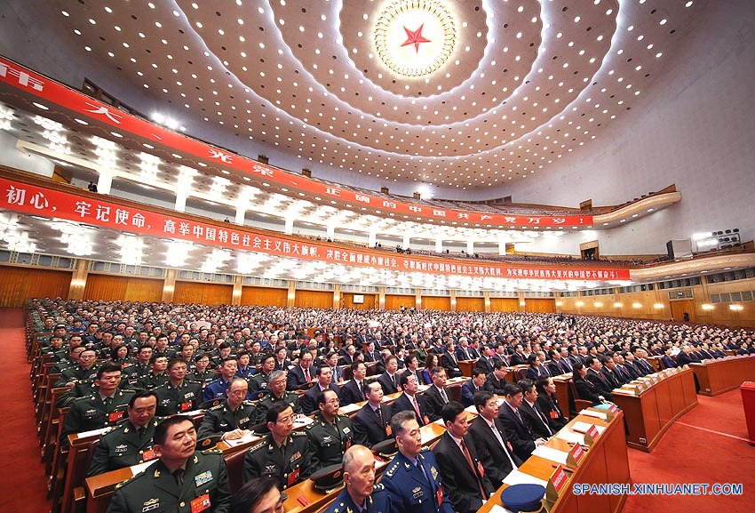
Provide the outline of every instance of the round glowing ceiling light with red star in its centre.
[[425,76],[449,59],[457,39],[456,22],[436,0],[399,0],[380,12],[373,38],[377,56],[393,73]]

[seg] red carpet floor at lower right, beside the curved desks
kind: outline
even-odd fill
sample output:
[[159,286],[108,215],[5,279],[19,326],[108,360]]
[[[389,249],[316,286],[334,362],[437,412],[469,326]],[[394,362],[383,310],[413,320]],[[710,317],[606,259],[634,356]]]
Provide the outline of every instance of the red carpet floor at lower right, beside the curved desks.
[[726,511],[749,513],[755,503],[755,447],[746,442],[738,389],[699,404],[674,422],[652,453],[629,449],[633,483],[741,483],[741,496],[631,496],[624,513]]

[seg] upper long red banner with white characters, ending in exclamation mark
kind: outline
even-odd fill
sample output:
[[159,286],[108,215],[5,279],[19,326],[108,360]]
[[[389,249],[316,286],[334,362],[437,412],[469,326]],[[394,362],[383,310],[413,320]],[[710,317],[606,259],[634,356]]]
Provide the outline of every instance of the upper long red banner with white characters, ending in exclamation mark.
[[168,148],[171,153],[186,153],[200,158],[218,169],[232,168],[246,173],[256,178],[258,187],[275,183],[284,188],[294,188],[306,192],[309,195],[307,198],[309,201],[314,201],[315,196],[324,196],[351,202],[372,211],[406,215],[413,220],[420,218],[457,223],[484,223],[491,227],[502,228],[592,226],[592,215],[512,215],[446,209],[426,204],[403,203],[395,198],[373,196],[366,192],[308,179],[303,175],[258,163],[256,160],[237,155],[227,149],[211,146],[186,135],[172,132],[159,124],[131,116],[2,57],[0,57],[0,84],[8,84],[15,89],[36,96],[39,100],[55,103],[59,107],[67,108],[80,116],[95,120],[100,124],[107,124],[121,135],[131,133],[134,136],[151,141],[153,145],[162,145]]

